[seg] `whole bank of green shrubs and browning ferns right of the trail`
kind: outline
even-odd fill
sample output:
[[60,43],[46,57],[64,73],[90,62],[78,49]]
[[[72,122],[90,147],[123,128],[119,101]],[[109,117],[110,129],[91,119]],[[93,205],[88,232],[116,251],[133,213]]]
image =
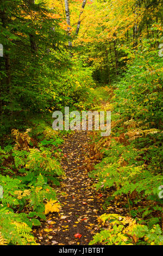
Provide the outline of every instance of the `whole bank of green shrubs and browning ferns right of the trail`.
[[90,244],[162,244],[162,64],[151,41],[143,44],[146,51],[137,51],[121,81],[104,88],[110,96],[101,110],[111,111],[111,135],[102,138],[91,132],[86,157],[96,189],[118,199],[137,224],[127,234],[123,223],[110,224]]

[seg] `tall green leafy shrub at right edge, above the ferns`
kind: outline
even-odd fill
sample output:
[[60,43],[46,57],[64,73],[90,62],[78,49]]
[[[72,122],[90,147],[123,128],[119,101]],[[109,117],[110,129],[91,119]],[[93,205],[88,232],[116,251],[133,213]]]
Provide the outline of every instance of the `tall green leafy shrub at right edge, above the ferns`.
[[[160,135],[163,85],[161,69],[162,60],[158,50],[152,47],[152,40],[143,40],[143,46],[135,52],[134,62],[128,66],[121,82],[115,85],[118,88],[116,97],[121,99],[116,102],[115,110],[126,120],[134,118],[134,121],[142,121],[143,130],[148,129],[149,139],[150,135]],[[152,128],[157,130],[151,130],[150,133]]]

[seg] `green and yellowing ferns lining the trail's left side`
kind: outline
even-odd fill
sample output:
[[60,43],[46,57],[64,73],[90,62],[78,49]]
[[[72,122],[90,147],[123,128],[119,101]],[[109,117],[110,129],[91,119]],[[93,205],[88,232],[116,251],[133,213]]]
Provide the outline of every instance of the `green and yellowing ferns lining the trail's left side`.
[[[62,142],[57,135],[46,138],[43,143],[37,143],[39,148],[31,148],[30,141],[34,141],[26,132],[12,131],[15,147],[1,149],[1,164],[5,160],[8,167],[1,166],[7,175],[0,174],[1,206],[0,243],[13,245],[35,245],[32,227],[41,225],[39,219],[46,220],[45,204],[51,200],[57,201],[54,188],[48,185],[48,180],[59,185],[58,176],[64,175],[58,160],[52,156],[51,145],[57,149]],[[52,138],[53,136],[53,138]],[[50,138],[51,137],[51,138]],[[50,138],[50,139],[49,139]],[[24,150],[26,149],[26,150]],[[12,161],[8,163],[8,159]],[[9,176],[9,173],[12,176]],[[26,213],[28,209],[28,212]],[[18,212],[15,214],[15,211]],[[10,233],[8,233],[10,232]]]

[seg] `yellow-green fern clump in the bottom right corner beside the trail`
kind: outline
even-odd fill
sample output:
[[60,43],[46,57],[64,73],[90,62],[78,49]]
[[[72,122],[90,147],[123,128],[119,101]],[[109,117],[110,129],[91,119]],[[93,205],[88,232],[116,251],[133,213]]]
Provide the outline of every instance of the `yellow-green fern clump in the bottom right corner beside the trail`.
[[[160,226],[149,229],[146,225],[136,224],[130,217],[118,214],[104,214],[99,221],[105,226],[93,236],[89,245],[162,245],[163,233]],[[107,227],[107,228],[106,228]]]

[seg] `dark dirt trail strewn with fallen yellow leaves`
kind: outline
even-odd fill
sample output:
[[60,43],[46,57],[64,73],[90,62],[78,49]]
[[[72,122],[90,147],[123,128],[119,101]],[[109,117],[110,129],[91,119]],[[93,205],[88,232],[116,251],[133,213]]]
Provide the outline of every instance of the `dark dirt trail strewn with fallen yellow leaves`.
[[[88,245],[99,231],[97,217],[104,214],[106,196],[94,190],[83,166],[89,141],[86,131],[76,131],[61,146],[64,154],[61,164],[66,173],[56,190],[61,209],[59,214],[49,214],[46,222],[34,230],[41,245]],[[79,237],[74,237],[76,234]]]

